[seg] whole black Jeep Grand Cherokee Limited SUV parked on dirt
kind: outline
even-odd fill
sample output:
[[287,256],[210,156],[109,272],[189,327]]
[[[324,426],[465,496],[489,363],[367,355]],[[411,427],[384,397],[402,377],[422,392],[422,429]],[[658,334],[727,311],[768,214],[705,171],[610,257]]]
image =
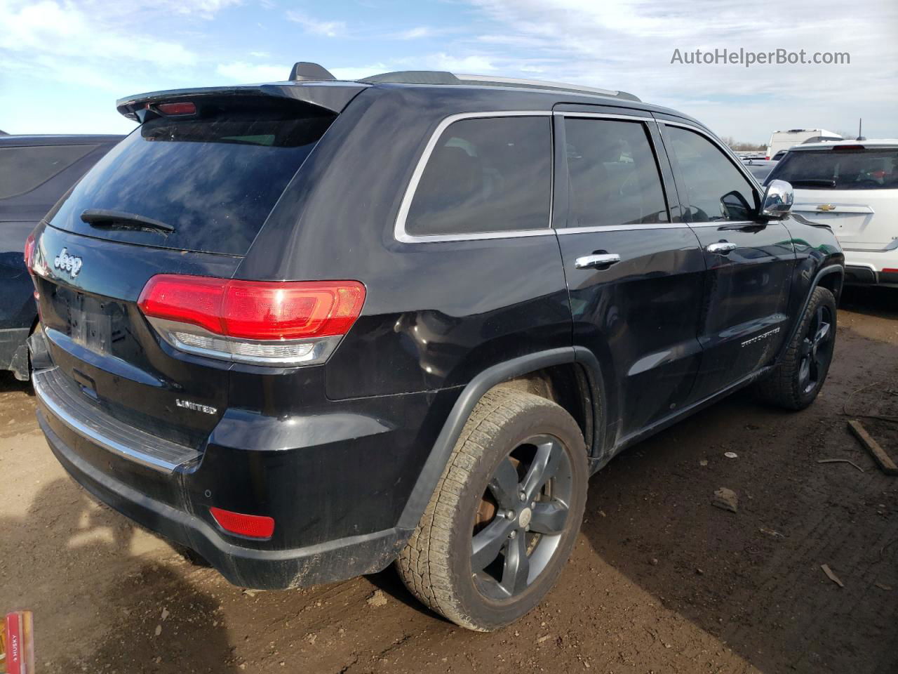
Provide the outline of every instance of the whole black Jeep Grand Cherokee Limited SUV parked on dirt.
[[397,562],[476,630],[556,580],[589,475],[743,386],[823,386],[843,258],[698,121],[406,72],[147,93],[35,230],[39,419],[233,583]]

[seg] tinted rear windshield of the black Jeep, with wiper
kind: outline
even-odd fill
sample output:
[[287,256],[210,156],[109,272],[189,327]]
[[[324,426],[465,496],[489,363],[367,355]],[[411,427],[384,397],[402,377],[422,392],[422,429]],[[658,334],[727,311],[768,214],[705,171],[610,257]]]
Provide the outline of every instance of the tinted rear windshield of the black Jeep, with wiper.
[[[51,224],[129,243],[242,255],[335,116],[300,102],[197,102],[191,118],[145,121],[84,176]],[[150,218],[88,225],[85,210]]]

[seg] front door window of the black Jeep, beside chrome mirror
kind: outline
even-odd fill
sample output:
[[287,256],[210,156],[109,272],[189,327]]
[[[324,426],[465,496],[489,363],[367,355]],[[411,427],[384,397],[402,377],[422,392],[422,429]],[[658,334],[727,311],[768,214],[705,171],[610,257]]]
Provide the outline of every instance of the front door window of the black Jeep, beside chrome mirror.
[[670,126],[666,131],[685,183],[688,222],[757,217],[757,191],[717,146],[695,131]]

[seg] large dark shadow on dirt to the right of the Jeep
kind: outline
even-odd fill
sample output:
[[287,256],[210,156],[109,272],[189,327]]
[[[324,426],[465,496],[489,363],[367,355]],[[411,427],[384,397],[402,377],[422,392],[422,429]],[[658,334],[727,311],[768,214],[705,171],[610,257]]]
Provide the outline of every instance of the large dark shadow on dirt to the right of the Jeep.
[[[898,479],[841,415],[870,370],[898,381],[898,346],[840,330],[836,356],[808,410],[737,394],[616,457],[590,485],[583,531],[603,563],[764,672],[898,671]],[[882,395],[866,389],[853,404]],[[831,458],[863,472],[819,463]],[[736,513],[711,506],[720,487],[738,494]]]

